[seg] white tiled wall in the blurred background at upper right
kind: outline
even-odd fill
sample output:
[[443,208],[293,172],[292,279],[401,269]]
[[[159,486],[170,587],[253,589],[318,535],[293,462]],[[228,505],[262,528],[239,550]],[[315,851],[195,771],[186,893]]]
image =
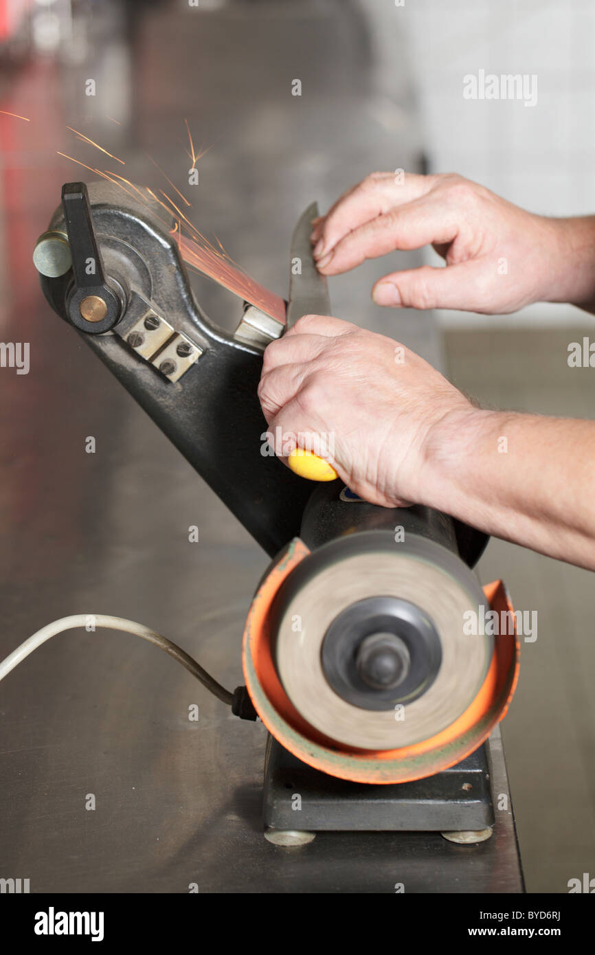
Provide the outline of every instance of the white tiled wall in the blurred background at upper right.
[[[398,2],[398,0],[397,0]],[[393,85],[395,35],[409,40],[421,138],[433,171],[457,171],[550,215],[595,212],[594,0],[361,0],[377,54],[377,90]],[[537,76],[537,103],[463,97],[463,77]],[[594,266],[595,267],[595,266]],[[498,322],[576,322],[534,306]],[[490,321],[443,313],[447,324]],[[584,321],[591,324],[592,318]]]

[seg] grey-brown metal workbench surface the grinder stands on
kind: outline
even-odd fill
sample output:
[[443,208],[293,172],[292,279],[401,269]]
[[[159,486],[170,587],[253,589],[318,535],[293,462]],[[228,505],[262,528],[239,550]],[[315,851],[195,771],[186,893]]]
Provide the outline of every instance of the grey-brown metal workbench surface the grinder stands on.
[[[88,62],[32,63],[20,94],[13,88],[0,107],[18,101],[23,112],[28,103],[35,116],[45,112],[50,139],[55,124],[93,129],[94,116],[114,104],[93,104],[89,117],[89,103],[64,91],[102,74],[126,36],[116,52],[129,57],[133,114],[116,145],[127,175],[146,180],[145,148],[171,171],[185,116],[205,139],[224,132],[200,166],[195,221],[287,294],[287,248],[301,209],[311,199],[326,207],[375,167],[418,161],[405,42],[395,32],[387,102],[375,92],[372,38],[356,5],[237,3],[192,15],[180,4],[138,11],[129,32],[90,46],[96,73]],[[195,69],[200,83],[190,81]],[[296,75],[309,84],[299,101],[288,94]],[[0,653],[60,616],[117,614],[180,643],[233,688],[243,682],[244,617],[266,556],[43,302],[32,244],[59,186],[78,173],[66,160],[48,161],[43,137],[37,151],[19,136],[3,159],[2,321],[4,340],[29,341],[32,357],[28,375],[2,371]],[[335,314],[391,333],[439,365],[431,316],[397,320],[370,304],[383,270],[386,263],[367,264],[333,281]],[[239,304],[206,281],[196,288],[213,319],[233,327]],[[85,452],[89,435],[95,454]],[[197,543],[190,525],[200,529]],[[193,705],[198,721],[188,718]],[[32,892],[187,892],[190,883],[201,892],[393,892],[397,882],[406,892],[521,889],[510,800],[494,837],[477,846],[420,833],[269,844],[264,727],[231,716],[176,663],[128,635],[55,637],[0,685],[0,716],[0,876],[30,879]],[[491,755],[495,792],[507,794],[499,733]]]

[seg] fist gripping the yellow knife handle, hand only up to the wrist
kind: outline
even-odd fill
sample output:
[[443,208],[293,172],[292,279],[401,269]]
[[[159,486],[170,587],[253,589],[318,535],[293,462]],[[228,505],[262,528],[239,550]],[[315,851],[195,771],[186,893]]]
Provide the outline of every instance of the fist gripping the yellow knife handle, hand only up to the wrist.
[[470,409],[413,351],[327,315],[305,315],[266,348],[259,397],[277,454],[321,435],[339,477],[387,507],[423,502],[435,426]]

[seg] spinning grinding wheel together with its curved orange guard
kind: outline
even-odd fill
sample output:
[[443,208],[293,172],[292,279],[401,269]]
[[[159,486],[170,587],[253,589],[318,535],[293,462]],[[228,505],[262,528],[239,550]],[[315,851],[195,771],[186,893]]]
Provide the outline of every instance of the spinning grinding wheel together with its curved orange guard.
[[484,603],[475,574],[421,536],[363,531],[313,553],[295,541],[248,617],[253,703],[283,746],[330,775],[435,774],[477,748],[512,690],[514,637],[495,646],[465,632]]

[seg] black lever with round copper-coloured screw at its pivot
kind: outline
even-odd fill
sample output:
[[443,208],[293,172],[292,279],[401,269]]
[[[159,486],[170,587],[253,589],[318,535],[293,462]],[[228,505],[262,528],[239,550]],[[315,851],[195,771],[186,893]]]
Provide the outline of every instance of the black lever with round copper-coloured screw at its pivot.
[[66,301],[69,317],[82,331],[109,331],[120,317],[122,301],[105,277],[84,182],[62,187],[62,208],[73,256],[74,286]]

